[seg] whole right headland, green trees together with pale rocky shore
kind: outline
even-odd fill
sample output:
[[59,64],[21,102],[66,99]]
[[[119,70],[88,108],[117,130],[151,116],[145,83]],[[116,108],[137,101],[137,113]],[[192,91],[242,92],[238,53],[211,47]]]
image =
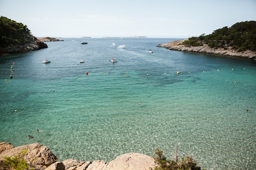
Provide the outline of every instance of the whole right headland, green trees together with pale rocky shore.
[[202,34],[188,40],[176,40],[157,46],[177,51],[212,53],[256,60],[256,21],[239,22],[230,28],[225,26],[217,29],[210,35]]

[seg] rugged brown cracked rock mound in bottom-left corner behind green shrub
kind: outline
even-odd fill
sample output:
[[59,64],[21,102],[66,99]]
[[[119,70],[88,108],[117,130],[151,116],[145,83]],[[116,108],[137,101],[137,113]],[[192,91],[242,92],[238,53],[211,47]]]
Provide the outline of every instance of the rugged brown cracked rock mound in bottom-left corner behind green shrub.
[[0,153],[0,162],[4,161],[4,157],[13,157],[14,155],[19,155],[19,153],[21,153],[23,150],[27,150],[23,159],[28,162],[32,162],[33,166],[36,168],[45,169],[52,163],[55,163],[58,159],[58,157],[56,157],[47,146],[35,143],[4,150],[2,153]]

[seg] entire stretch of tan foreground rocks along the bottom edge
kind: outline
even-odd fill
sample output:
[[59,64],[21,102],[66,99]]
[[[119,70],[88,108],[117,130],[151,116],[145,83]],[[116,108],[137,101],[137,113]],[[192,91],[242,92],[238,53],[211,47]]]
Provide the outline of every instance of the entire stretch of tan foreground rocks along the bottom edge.
[[[23,159],[28,163],[31,162],[31,166],[38,170],[150,170],[156,166],[152,157],[139,153],[120,155],[110,162],[102,160],[85,162],[72,158],[57,161],[58,157],[42,144],[14,147],[9,142],[0,142],[0,165],[3,164],[4,157],[14,157],[23,150],[27,150]],[[2,166],[0,170],[3,170]]]

